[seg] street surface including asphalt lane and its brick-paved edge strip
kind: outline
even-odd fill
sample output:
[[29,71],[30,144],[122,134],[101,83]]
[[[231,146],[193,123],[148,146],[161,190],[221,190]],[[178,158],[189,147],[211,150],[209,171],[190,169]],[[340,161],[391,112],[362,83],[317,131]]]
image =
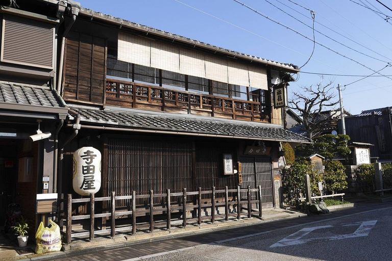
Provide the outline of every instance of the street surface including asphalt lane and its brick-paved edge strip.
[[56,260],[392,260],[391,221],[392,203],[376,204]]

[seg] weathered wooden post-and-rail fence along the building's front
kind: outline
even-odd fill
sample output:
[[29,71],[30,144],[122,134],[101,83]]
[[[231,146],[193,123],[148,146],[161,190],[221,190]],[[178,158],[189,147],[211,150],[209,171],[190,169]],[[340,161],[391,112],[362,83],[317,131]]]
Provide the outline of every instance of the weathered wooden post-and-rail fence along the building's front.
[[[205,194],[210,194],[210,197],[206,197]],[[242,198],[241,198],[242,194]],[[255,195],[256,194],[256,195]],[[187,200],[188,196],[194,195],[194,200]],[[246,197],[243,197],[246,195]],[[182,198],[181,202],[171,202],[171,197]],[[144,198],[148,200],[148,205],[136,205],[136,199]],[[160,198],[160,204],[154,204],[154,199]],[[217,202],[216,198],[219,198],[223,202]],[[232,200],[229,200],[232,198]],[[254,198],[252,200],[252,198]],[[255,199],[256,198],[256,199]],[[116,200],[124,200],[128,199],[131,201],[130,210],[127,211],[117,211],[116,210]],[[261,197],[261,187],[258,186],[258,189],[240,189],[238,186],[237,189],[229,190],[226,187],[224,190],[215,190],[215,187],[209,191],[202,191],[199,188],[199,191],[188,192],[186,189],[183,189],[183,192],[180,193],[170,193],[168,189],[164,194],[154,194],[154,191],[150,191],[149,195],[136,195],[136,192],[133,191],[130,196],[116,196],[115,192],[111,193],[110,197],[95,197],[94,194],[91,194],[89,198],[82,199],[72,199],[72,194],[68,194],[66,198],[64,198],[64,194],[60,195],[60,210],[59,210],[59,223],[62,228],[65,221],[66,231],[61,231],[63,236],[65,237],[64,242],[67,244],[71,243],[72,238],[83,238],[89,237],[90,240],[93,240],[94,237],[98,234],[110,234],[110,237],[114,237],[116,232],[127,232],[132,231],[132,234],[136,233],[136,227],[142,226],[142,224],[138,224],[136,222],[136,217],[148,217],[150,216],[149,221],[149,231],[152,232],[154,230],[154,226],[166,225],[167,229],[171,227],[171,214],[175,211],[182,213],[182,226],[186,227],[188,222],[197,222],[199,225],[202,223],[202,220],[210,220],[212,223],[215,222],[216,218],[225,218],[225,220],[229,220],[229,216],[236,216],[237,219],[241,219],[241,211],[243,205],[246,205],[248,211],[248,218],[251,218],[252,215],[262,217],[262,197]],[[108,205],[110,205],[110,211],[103,211],[103,213],[95,212],[95,203],[99,201],[106,201]],[[156,202],[156,201],[155,201]],[[87,203],[89,205],[89,213],[88,215],[72,215],[72,204],[78,203]],[[252,210],[252,204],[258,205],[258,210]],[[66,206],[66,207],[65,207]],[[230,206],[232,206],[232,211],[230,212]],[[224,208],[225,213],[220,214],[220,209]],[[235,210],[235,211],[234,211]],[[187,214],[187,212],[192,212],[192,216]],[[207,214],[203,214],[203,212]],[[154,215],[160,215],[160,222],[158,220],[154,221]],[[208,215],[209,214],[209,215]],[[165,220],[162,221],[162,215],[164,215]],[[120,217],[127,216],[127,219],[120,219]],[[131,219],[128,217],[131,216]],[[110,228],[106,229],[106,226],[102,226],[101,229],[95,229],[94,221],[96,218],[107,218],[110,219]],[[76,220],[86,220],[89,221],[89,229],[88,231],[82,232],[72,232],[72,221]],[[116,221],[129,221],[129,224],[124,224],[121,222],[121,225],[117,225]],[[118,223],[118,222],[117,222]]]

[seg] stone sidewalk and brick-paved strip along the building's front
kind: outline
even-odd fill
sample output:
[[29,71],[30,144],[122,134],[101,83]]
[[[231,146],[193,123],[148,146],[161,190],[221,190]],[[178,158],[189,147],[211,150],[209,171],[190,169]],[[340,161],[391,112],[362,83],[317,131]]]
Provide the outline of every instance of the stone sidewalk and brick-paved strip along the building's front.
[[[304,223],[337,218],[344,215],[366,211],[370,207],[380,207],[369,201],[350,199],[355,203],[341,205],[342,210],[331,210],[329,215],[307,216],[306,214],[277,208],[263,211],[263,218],[243,218],[229,221],[216,220],[214,224],[204,222],[202,225],[188,224],[185,228],[181,225],[173,226],[170,231],[155,229],[152,233],[138,232],[135,235],[118,234],[114,239],[97,237],[92,241],[74,240],[64,246],[65,251],[37,255],[34,254],[35,246],[20,249],[17,242],[10,241],[4,232],[0,233],[0,261],[8,260],[140,260],[149,256],[164,254],[170,251],[181,251],[189,247],[202,244],[219,243],[237,238],[255,236],[271,230],[287,226],[301,225]],[[379,206],[378,206],[379,205]],[[340,207],[341,207],[340,206]],[[356,206],[356,207],[354,207]],[[132,247],[130,247],[132,246]],[[30,253],[29,253],[30,251]]]

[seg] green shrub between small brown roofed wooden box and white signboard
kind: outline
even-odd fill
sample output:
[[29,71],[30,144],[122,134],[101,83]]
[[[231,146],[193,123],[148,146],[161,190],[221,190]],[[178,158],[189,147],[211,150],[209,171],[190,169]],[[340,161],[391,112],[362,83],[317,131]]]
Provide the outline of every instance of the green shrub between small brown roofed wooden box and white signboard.
[[325,161],[324,181],[326,191],[335,194],[338,191],[347,189],[346,167],[339,161]]

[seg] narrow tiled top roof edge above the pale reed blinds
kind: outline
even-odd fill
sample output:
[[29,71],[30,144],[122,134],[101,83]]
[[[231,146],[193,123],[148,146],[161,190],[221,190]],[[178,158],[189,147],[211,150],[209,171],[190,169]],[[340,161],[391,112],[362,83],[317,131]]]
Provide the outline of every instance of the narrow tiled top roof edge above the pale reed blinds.
[[253,62],[258,62],[258,63],[262,63],[262,64],[268,64],[268,65],[273,65],[273,66],[277,66],[280,68],[285,68],[291,72],[299,72],[300,69],[298,68],[297,65],[293,65],[293,64],[287,64],[287,63],[281,63],[281,62],[275,62],[275,61],[271,61],[271,60],[267,60],[267,59],[263,59],[263,58],[259,58],[259,57],[255,57],[255,56],[251,56],[251,55],[247,55],[247,54],[243,54],[243,53],[239,53],[238,51],[233,51],[233,50],[229,50],[229,49],[225,49],[222,47],[218,47],[215,45],[211,45],[208,43],[204,43],[198,40],[193,40],[187,37],[183,37],[181,35],[176,35],[176,34],[172,34],[169,32],[165,32],[162,30],[158,30],[155,28],[151,28],[151,27],[147,27],[146,25],[142,25],[139,23],[135,23],[135,22],[131,22],[128,20],[124,20],[121,18],[117,18],[117,17],[113,17],[111,15],[107,15],[107,14],[103,14],[101,12],[95,12],[93,10],[87,9],[87,8],[83,8],[81,11],[82,14],[84,15],[88,15],[91,16],[91,19],[103,19],[103,20],[107,20],[110,21],[111,23],[117,23],[119,24],[121,27],[129,27],[132,28],[134,30],[138,30],[138,31],[143,31],[143,32],[148,32],[149,34],[155,34],[164,38],[169,38],[173,41],[181,41],[181,42],[185,42],[188,44],[191,44],[193,46],[199,46],[202,48],[207,48],[207,49],[213,49],[215,52],[216,51],[220,51],[223,52],[225,54],[229,54],[232,55],[234,57],[241,57],[243,59],[249,59],[252,60]]

